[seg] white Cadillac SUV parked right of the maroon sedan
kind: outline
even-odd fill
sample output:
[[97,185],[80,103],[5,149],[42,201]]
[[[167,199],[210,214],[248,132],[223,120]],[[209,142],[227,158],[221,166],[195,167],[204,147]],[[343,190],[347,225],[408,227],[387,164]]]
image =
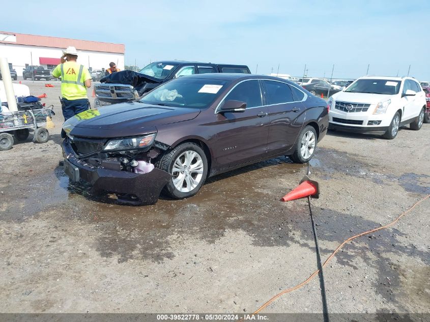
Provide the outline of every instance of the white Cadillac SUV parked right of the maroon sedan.
[[421,128],[425,94],[412,77],[364,76],[331,96],[328,105],[329,128],[393,139],[400,126]]

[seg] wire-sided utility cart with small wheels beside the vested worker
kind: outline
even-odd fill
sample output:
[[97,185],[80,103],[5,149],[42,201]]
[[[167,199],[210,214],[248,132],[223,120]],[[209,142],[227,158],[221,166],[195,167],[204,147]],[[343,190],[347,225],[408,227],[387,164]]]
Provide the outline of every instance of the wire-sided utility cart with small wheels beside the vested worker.
[[49,132],[44,126],[54,114],[51,107],[0,114],[0,151],[12,149],[13,136],[19,141],[27,139],[30,129],[34,130],[33,142],[45,143]]

